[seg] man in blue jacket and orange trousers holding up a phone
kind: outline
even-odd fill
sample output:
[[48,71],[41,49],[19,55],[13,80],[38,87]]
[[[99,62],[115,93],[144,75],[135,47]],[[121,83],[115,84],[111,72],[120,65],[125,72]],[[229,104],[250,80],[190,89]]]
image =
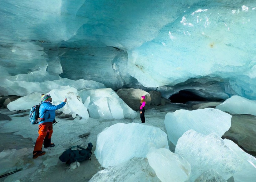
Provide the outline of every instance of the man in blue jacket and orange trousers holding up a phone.
[[42,156],[45,154],[45,151],[42,151],[42,146],[44,147],[54,147],[55,144],[51,143],[52,137],[52,122],[55,121],[55,110],[60,109],[65,106],[67,99],[55,106],[52,105],[52,98],[50,94],[42,94],[42,102],[39,107],[39,117],[38,118],[38,133],[37,141],[35,144],[35,148],[33,151],[33,158],[37,158],[38,156]]

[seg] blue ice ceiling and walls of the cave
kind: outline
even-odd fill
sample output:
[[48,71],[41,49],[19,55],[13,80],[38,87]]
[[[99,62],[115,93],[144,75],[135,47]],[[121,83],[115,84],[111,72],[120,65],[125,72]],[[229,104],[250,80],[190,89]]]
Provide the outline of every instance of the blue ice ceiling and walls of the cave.
[[6,80],[39,71],[30,82],[256,100],[254,0],[0,2],[2,95],[21,95]]

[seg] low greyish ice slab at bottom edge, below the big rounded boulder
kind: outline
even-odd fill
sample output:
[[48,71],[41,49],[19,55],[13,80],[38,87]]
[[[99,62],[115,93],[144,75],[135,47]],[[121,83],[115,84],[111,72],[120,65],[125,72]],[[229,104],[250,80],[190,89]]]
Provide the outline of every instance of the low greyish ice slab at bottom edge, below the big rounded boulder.
[[116,166],[108,166],[106,169],[97,172],[89,182],[106,181],[160,182],[145,157],[133,157],[129,161]]

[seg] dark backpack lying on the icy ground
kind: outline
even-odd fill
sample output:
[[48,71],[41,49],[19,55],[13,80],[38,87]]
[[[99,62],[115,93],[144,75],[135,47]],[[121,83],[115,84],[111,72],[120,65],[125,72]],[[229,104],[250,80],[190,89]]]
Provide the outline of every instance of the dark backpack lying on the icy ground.
[[[92,149],[92,143],[88,143],[87,148],[82,148],[79,145],[73,146],[66,151],[64,151],[59,159],[61,162],[66,162],[66,164],[70,165],[72,162],[81,162],[84,160],[91,160],[91,149]],[[74,148],[77,148],[77,150],[73,150]],[[81,149],[81,150],[79,150]]]

